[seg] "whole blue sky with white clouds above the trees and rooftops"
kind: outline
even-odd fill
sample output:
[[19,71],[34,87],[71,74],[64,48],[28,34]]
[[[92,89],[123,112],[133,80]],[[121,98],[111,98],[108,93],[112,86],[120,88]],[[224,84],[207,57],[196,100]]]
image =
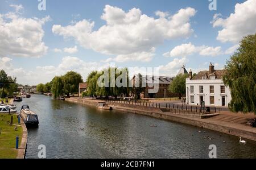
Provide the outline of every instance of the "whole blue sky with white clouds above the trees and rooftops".
[[[43,0],[40,0],[43,1]],[[175,76],[223,69],[256,32],[256,0],[0,1],[0,69],[23,85],[110,66]],[[41,5],[41,4],[40,4]],[[39,8],[39,7],[41,8]],[[146,73],[150,74],[150,73]]]

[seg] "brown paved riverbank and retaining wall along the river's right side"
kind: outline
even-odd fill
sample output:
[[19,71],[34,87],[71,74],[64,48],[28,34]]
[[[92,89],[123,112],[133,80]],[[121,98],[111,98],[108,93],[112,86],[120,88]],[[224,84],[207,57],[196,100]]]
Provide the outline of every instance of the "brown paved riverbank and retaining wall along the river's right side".
[[[96,106],[99,101],[93,99],[84,99],[84,98],[67,98],[66,101],[79,103],[82,105],[90,105]],[[120,103],[113,103],[111,105],[113,110],[123,111],[125,113],[134,113],[134,114],[142,114],[147,115],[154,118],[166,119],[169,121],[185,123],[187,125],[197,126],[201,128],[207,128],[214,131],[223,132],[225,134],[234,135],[234,136],[241,136],[242,138],[250,139],[256,141],[256,128],[252,128],[246,126],[241,123],[230,122],[216,119],[216,117],[208,118],[208,119],[200,119],[196,115],[188,115],[188,114],[172,114],[169,112],[162,112],[160,109],[157,108],[147,108],[144,106],[136,106],[133,105],[131,107],[127,105],[121,105]],[[229,112],[221,112],[220,116],[229,115]],[[232,114],[236,115],[236,114]],[[217,116],[218,117],[218,116]],[[241,115],[242,117],[242,115]],[[254,115],[246,115],[246,118],[252,118]]]

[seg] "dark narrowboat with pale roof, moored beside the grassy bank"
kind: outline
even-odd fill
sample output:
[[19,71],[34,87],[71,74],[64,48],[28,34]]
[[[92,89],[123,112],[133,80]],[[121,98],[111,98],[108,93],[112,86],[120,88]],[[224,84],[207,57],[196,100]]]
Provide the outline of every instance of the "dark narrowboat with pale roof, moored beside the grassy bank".
[[28,105],[23,105],[20,110],[20,117],[23,119],[26,126],[35,126],[38,127],[39,120],[38,115],[30,110]]

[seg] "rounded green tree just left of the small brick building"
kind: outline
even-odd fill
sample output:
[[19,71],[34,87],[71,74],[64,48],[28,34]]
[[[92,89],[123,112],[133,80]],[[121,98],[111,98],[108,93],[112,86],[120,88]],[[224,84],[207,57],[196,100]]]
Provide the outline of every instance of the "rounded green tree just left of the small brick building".
[[67,94],[68,97],[70,93],[78,92],[79,84],[83,82],[81,74],[73,71],[68,72],[61,79],[63,82],[63,93]]

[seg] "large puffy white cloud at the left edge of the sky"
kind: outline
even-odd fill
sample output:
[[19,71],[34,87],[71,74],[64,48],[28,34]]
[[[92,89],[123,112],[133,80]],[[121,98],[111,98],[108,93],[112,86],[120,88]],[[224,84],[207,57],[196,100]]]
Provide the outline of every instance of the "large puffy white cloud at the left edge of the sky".
[[[23,9],[15,6],[16,11]],[[40,57],[47,53],[43,42],[46,18],[22,18],[16,13],[0,14],[0,56]]]

